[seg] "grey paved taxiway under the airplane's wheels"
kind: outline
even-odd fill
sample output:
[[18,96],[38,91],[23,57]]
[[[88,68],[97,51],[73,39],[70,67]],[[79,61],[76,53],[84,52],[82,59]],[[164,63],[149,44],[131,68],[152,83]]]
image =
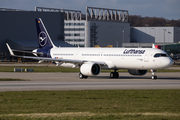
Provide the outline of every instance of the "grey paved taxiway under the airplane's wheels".
[[105,90],[105,89],[180,89],[179,73],[157,73],[158,79],[131,76],[120,73],[118,79],[110,79],[109,73],[79,79],[79,73],[13,73],[0,72],[0,78],[18,78],[26,81],[0,81],[0,91],[35,90]]

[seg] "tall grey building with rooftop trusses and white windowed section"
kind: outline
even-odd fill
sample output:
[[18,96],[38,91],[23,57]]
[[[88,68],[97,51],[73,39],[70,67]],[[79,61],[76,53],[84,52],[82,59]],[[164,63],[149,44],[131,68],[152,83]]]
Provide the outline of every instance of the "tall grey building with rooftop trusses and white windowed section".
[[36,7],[36,11],[64,12],[64,40],[74,46],[119,47],[130,42],[127,10],[86,7],[86,14],[81,14],[77,10]]

